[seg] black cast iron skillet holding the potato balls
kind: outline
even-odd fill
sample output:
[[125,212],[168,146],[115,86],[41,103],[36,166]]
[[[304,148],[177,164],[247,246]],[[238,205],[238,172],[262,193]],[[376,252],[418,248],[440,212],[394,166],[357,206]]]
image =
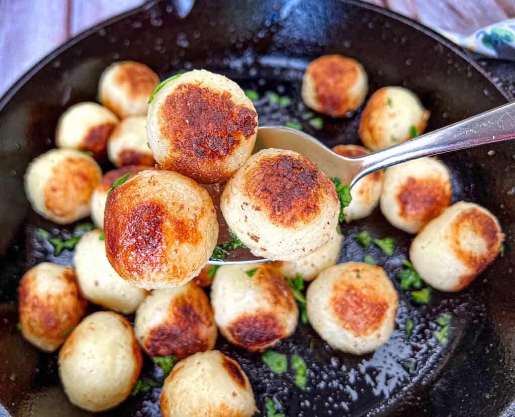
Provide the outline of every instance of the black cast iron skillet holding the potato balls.
[[[414,90],[432,112],[430,130],[506,102],[482,70],[438,35],[370,5],[199,0],[192,9],[192,1],[146,4],[80,34],[37,64],[0,100],[0,400],[16,416],[89,415],[65,399],[56,355],[40,353],[16,331],[15,289],[28,267],[44,260],[71,262],[71,252],[53,257],[35,228],[66,237],[73,225],[58,228],[29,209],[23,174],[33,157],[53,146],[56,121],[65,108],[95,100],[100,73],[111,62],[141,61],[161,78],[179,70],[207,68],[244,88],[260,93],[274,90],[293,99],[285,108],[266,98],[259,100],[261,124],[301,121],[306,110],[299,91],[303,69],[326,53],[341,53],[363,63],[371,92],[384,85]],[[302,124],[305,131],[334,146],[358,142],[358,120],[359,112],[345,120],[324,118],[320,131],[307,121]],[[372,255],[397,285],[396,330],[388,345],[374,354],[353,356],[333,351],[311,327],[300,324],[277,350],[306,359],[310,374],[304,392],[292,383],[291,373],[274,376],[259,353],[244,352],[220,338],[217,349],[238,360],[247,372],[260,410],[268,396],[281,404],[278,411],[291,416],[515,415],[513,142],[443,159],[452,170],[454,201],[475,201],[499,216],[507,234],[505,257],[465,291],[454,295],[434,291],[429,305],[417,306],[395,278],[410,237],[393,229],[379,210],[344,227],[340,261]],[[396,238],[394,256],[358,246],[352,235],[363,229],[376,237]],[[447,347],[432,336],[435,319],[443,312],[452,314]],[[407,317],[415,321],[409,340]],[[143,374],[161,377],[148,360]],[[159,389],[154,389],[130,397],[106,415],[159,415],[158,400]],[[2,414],[9,415],[6,410],[0,410]]]

